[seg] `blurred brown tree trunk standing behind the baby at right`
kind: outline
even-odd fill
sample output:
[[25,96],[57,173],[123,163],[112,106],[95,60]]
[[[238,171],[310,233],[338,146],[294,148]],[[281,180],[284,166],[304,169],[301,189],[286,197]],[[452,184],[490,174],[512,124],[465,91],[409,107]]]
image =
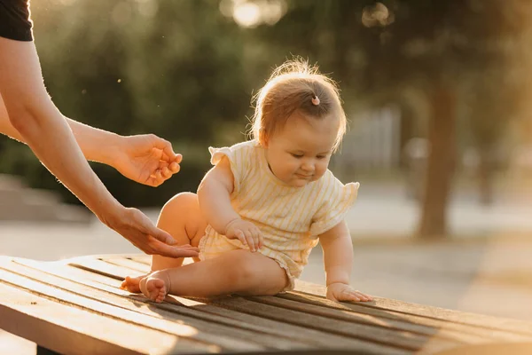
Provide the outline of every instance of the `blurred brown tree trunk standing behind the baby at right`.
[[431,93],[428,128],[429,153],[418,236],[424,240],[447,235],[447,205],[455,168],[456,100],[454,92],[440,83]]

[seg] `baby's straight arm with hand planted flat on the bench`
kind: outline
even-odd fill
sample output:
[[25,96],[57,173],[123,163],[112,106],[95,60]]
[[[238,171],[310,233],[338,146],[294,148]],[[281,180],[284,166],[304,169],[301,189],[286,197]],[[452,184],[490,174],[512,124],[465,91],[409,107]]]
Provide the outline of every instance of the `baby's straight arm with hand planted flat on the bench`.
[[353,243],[344,221],[319,236],[324,249],[327,298],[332,301],[372,301],[349,286],[353,267]]

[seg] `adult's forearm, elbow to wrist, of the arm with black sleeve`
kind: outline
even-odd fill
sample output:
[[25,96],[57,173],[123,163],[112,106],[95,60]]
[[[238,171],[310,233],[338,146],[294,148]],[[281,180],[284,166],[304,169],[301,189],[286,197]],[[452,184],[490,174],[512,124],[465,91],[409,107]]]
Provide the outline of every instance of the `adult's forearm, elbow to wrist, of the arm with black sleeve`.
[[12,126],[44,166],[106,223],[108,213],[120,208],[120,203],[90,169],[59,110],[55,106],[37,107],[39,112],[21,110],[10,120]]

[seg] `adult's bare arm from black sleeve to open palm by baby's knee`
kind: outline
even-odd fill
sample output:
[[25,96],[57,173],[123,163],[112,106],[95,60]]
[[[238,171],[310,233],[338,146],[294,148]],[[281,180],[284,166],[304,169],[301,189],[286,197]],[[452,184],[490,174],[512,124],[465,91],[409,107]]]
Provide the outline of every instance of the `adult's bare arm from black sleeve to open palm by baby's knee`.
[[90,169],[72,130],[46,92],[35,43],[0,37],[0,95],[21,140],[103,223],[148,254],[197,254],[165,244],[173,242],[172,237],[139,210],[123,207]]

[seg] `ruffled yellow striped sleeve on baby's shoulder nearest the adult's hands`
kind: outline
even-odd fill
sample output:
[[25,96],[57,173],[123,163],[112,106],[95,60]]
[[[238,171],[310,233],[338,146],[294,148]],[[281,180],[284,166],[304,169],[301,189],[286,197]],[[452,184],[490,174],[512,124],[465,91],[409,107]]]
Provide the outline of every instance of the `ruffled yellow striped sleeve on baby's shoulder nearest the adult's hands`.
[[240,183],[246,177],[249,165],[249,149],[245,145],[224,146],[222,148],[208,147],[211,154],[211,164],[216,165],[224,156],[229,159],[231,172],[233,174],[233,193],[239,193]]

